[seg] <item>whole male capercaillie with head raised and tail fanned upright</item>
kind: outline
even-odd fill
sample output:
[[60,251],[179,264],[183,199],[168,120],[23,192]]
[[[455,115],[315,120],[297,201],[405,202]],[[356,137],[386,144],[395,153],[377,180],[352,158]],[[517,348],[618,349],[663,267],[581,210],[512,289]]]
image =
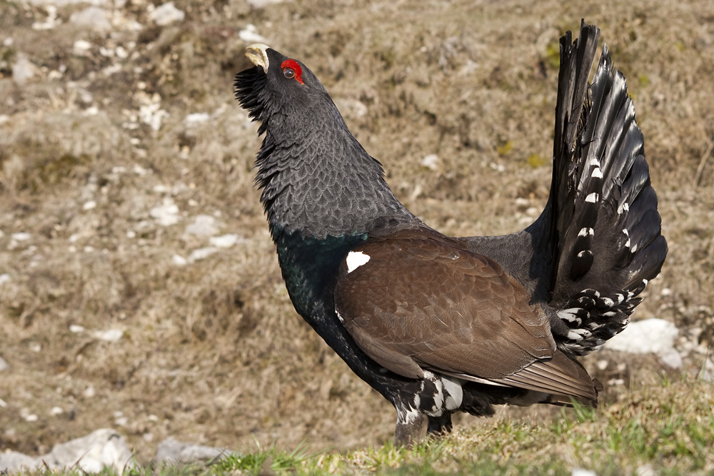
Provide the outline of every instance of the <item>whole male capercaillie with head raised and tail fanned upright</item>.
[[508,236],[410,213],[307,67],[263,44],[236,76],[260,121],[256,183],[298,313],[397,411],[396,440],[493,405],[595,405],[575,358],[628,324],[667,254],[643,136],[600,30],[560,39],[550,198]]

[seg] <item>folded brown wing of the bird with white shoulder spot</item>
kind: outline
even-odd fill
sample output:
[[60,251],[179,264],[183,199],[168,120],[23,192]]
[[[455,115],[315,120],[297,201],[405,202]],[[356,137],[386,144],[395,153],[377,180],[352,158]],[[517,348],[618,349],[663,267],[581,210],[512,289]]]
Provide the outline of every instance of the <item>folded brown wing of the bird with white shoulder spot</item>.
[[385,368],[595,397],[589,378],[573,384],[582,376],[568,365],[544,362],[556,352],[548,318],[493,260],[423,231],[368,241],[353,253],[338,278],[336,311]]

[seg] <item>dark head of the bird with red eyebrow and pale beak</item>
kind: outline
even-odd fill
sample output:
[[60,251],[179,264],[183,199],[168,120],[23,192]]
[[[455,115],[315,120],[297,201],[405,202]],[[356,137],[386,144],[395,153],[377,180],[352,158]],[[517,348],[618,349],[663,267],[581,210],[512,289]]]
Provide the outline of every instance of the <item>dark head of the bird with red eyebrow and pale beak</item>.
[[246,56],[256,66],[236,74],[236,99],[253,120],[261,121],[259,133],[266,131],[271,118],[307,126],[303,121],[323,116],[316,115],[318,108],[334,108],[325,88],[301,61],[260,43],[248,46]]

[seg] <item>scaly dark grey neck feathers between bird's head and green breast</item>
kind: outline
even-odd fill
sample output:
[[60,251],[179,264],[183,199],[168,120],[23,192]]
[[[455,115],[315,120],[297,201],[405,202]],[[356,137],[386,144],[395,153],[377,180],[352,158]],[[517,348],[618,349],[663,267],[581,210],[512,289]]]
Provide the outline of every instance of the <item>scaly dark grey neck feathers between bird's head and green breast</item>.
[[268,127],[256,183],[273,238],[299,232],[319,240],[418,222],[393,196],[380,163],[324,98],[263,118]]

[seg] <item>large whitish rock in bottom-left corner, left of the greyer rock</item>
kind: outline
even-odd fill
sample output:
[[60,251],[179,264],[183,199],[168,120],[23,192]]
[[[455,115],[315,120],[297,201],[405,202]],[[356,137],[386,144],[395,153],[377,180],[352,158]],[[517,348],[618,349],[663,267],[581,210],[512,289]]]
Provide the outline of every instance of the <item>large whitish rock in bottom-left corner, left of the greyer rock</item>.
[[131,450],[124,437],[114,430],[102,428],[85,437],[56,445],[49,454],[40,458],[49,467],[79,465],[83,472],[96,473],[104,467],[121,472],[131,465],[131,457]]

